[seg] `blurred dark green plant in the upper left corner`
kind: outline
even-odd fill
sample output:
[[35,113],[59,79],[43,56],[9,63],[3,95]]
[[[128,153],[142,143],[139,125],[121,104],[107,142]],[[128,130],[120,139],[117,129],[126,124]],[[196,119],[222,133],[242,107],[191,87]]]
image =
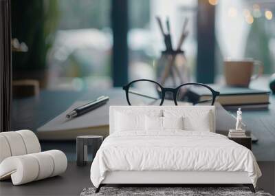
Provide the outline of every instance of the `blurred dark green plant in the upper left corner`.
[[58,25],[56,0],[12,0],[12,37],[25,42],[28,52],[13,52],[15,71],[46,68],[47,52],[52,47]]

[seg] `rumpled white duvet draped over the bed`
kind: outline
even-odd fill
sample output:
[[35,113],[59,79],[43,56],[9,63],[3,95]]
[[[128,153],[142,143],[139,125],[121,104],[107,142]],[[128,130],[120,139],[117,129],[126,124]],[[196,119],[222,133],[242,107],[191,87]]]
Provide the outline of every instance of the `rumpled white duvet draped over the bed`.
[[91,164],[94,186],[99,186],[107,171],[246,171],[254,186],[261,177],[252,151],[205,131],[113,133]]

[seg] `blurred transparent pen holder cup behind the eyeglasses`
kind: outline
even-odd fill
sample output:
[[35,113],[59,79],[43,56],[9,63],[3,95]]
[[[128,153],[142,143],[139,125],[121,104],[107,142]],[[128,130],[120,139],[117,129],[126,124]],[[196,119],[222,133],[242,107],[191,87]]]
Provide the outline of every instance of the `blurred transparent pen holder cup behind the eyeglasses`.
[[[178,87],[190,82],[184,51],[163,51],[156,65],[156,78],[163,87]],[[167,95],[167,98],[173,98]]]

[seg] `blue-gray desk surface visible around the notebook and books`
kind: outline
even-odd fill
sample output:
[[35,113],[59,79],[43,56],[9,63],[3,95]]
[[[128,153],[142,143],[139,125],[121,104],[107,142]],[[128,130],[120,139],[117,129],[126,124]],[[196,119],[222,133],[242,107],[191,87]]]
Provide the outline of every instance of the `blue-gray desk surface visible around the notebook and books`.
[[[268,89],[267,80],[252,83],[251,87]],[[124,96],[121,88],[96,91],[41,91],[39,98],[23,98],[12,102],[12,129],[30,129],[38,127],[58,116],[76,100],[93,100],[98,96]],[[125,100],[126,101],[126,100]],[[270,109],[262,111],[243,111],[243,121],[248,129],[259,139],[252,145],[257,160],[275,161],[275,96],[270,96]],[[23,113],[24,115],[21,115]],[[76,142],[42,141],[43,150],[60,149],[69,160],[76,160]]]

